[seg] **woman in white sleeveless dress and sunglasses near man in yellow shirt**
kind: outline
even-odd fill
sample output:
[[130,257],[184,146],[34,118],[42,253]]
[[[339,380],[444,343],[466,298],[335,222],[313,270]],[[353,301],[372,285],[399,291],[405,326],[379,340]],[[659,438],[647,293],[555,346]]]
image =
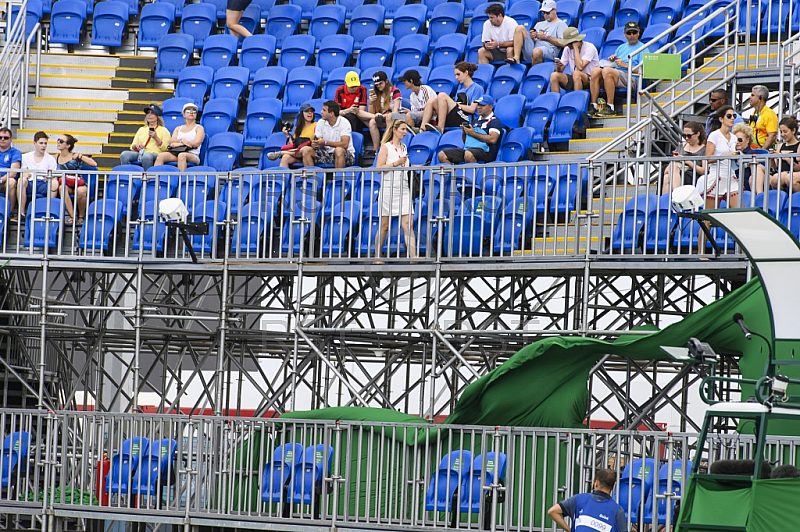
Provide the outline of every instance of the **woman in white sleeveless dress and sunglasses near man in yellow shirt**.
[[[730,105],[717,111],[712,122],[711,135],[706,142],[706,157],[709,157],[705,175],[697,180],[697,191],[705,198],[706,207],[718,208],[725,200],[729,207],[739,205],[739,180],[733,171],[731,159],[721,156],[738,155],[736,136],[731,133],[735,113]],[[704,246],[703,246],[704,247]]]

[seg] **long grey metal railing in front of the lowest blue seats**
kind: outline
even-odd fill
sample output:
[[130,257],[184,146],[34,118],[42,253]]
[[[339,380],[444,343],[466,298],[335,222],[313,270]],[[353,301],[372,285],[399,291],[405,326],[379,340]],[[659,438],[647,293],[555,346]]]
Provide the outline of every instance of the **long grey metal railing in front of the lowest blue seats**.
[[[542,530],[552,504],[590,489],[606,467],[617,473],[628,520],[647,523],[679,498],[697,441],[664,432],[19,410],[3,411],[0,422],[0,519],[242,528]],[[716,435],[710,460],[745,458],[754,444]],[[767,448],[771,460],[793,463],[800,438],[772,438]]]

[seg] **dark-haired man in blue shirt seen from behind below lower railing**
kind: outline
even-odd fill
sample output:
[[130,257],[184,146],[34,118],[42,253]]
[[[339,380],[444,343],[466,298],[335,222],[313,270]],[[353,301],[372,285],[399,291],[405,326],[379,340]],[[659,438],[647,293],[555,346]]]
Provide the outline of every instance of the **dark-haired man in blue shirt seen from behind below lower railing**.
[[[627,532],[625,511],[611,498],[616,482],[612,470],[600,469],[594,477],[594,491],[554,504],[547,515],[566,532]],[[572,528],[564,516],[572,519]]]

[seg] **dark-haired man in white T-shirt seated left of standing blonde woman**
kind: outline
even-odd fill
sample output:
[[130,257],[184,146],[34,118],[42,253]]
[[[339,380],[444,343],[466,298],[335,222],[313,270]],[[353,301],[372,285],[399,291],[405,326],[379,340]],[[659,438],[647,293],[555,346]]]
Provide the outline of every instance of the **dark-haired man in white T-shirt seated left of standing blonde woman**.
[[305,166],[333,164],[336,168],[344,168],[356,164],[353,131],[339,112],[339,104],[332,100],[322,104],[322,120],[317,122],[311,145],[299,152]]

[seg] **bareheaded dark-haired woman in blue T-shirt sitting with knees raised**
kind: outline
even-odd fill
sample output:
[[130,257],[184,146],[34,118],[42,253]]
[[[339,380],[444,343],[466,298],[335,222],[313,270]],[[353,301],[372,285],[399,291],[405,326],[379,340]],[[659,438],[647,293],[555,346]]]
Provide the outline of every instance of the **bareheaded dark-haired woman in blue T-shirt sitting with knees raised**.
[[[468,124],[470,117],[477,109],[475,100],[483,96],[483,87],[472,81],[472,75],[478,70],[478,65],[461,61],[456,63],[455,76],[458,81],[456,87],[456,101],[445,92],[436,95],[435,100],[430,100],[422,113],[420,130],[444,132],[446,127],[459,127]],[[438,125],[431,124],[433,114],[436,113]]]

